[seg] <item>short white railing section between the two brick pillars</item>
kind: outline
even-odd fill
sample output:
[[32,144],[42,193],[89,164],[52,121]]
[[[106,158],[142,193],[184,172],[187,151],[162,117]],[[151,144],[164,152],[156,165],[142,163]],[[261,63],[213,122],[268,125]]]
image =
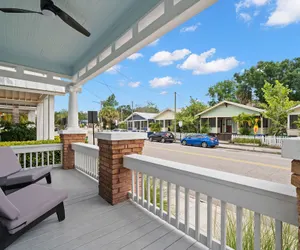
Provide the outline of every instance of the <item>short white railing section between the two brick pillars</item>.
[[73,143],[72,149],[75,151],[75,168],[98,181],[99,147],[86,143]]

